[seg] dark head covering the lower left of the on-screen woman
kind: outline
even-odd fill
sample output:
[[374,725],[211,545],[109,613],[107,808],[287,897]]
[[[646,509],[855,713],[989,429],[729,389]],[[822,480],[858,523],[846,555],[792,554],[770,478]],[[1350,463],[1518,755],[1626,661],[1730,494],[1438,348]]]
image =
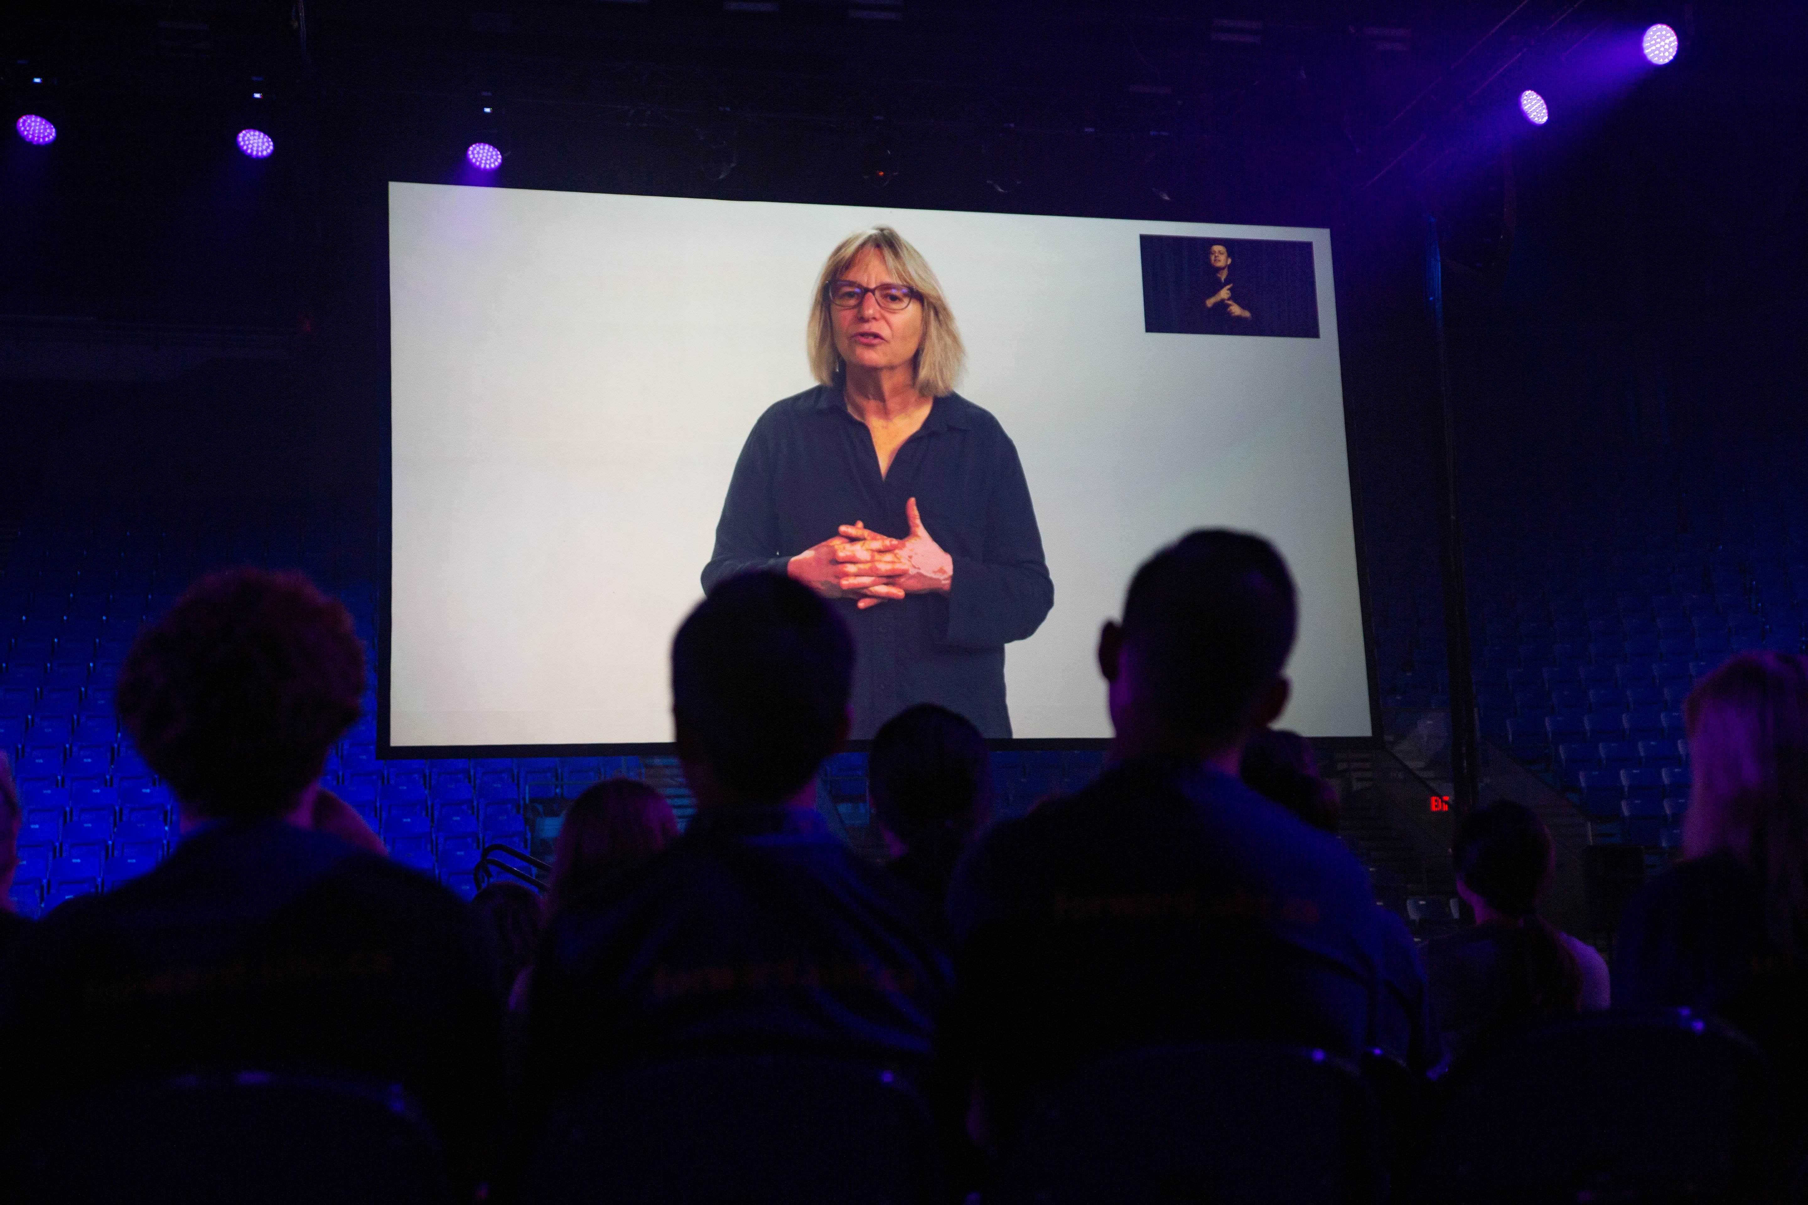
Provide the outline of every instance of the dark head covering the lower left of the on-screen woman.
[[678,757],[700,804],[777,804],[848,733],[853,638],[776,573],[716,584],[673,640]]

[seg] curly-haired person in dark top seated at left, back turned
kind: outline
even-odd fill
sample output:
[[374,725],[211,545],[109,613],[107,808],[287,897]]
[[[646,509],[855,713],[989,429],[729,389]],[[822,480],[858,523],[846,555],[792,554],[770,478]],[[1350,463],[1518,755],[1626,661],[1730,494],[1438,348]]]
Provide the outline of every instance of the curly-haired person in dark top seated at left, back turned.
[[362,688],[351,616],[293,573],[206,576],[139,636],[119,719],[175,791],[183,838],[18,950],[0,999],[9,1129],[123,1082],[378,1080],[414,1097],[477,1194],[501,1120],[495,948],[320,789]]

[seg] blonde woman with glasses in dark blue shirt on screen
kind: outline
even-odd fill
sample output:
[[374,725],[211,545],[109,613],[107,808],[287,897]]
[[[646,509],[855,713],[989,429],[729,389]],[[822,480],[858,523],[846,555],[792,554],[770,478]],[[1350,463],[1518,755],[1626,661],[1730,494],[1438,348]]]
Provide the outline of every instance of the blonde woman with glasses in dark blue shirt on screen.
[[890,226],[830,253],[808,322],[817,387],[754,423],[703,589],[749,569],[837,600],[853,728],[938,703],[1011,735],[1005,643],[1054,603],[1016,446],[955,392],[964,349],[929,264]]

